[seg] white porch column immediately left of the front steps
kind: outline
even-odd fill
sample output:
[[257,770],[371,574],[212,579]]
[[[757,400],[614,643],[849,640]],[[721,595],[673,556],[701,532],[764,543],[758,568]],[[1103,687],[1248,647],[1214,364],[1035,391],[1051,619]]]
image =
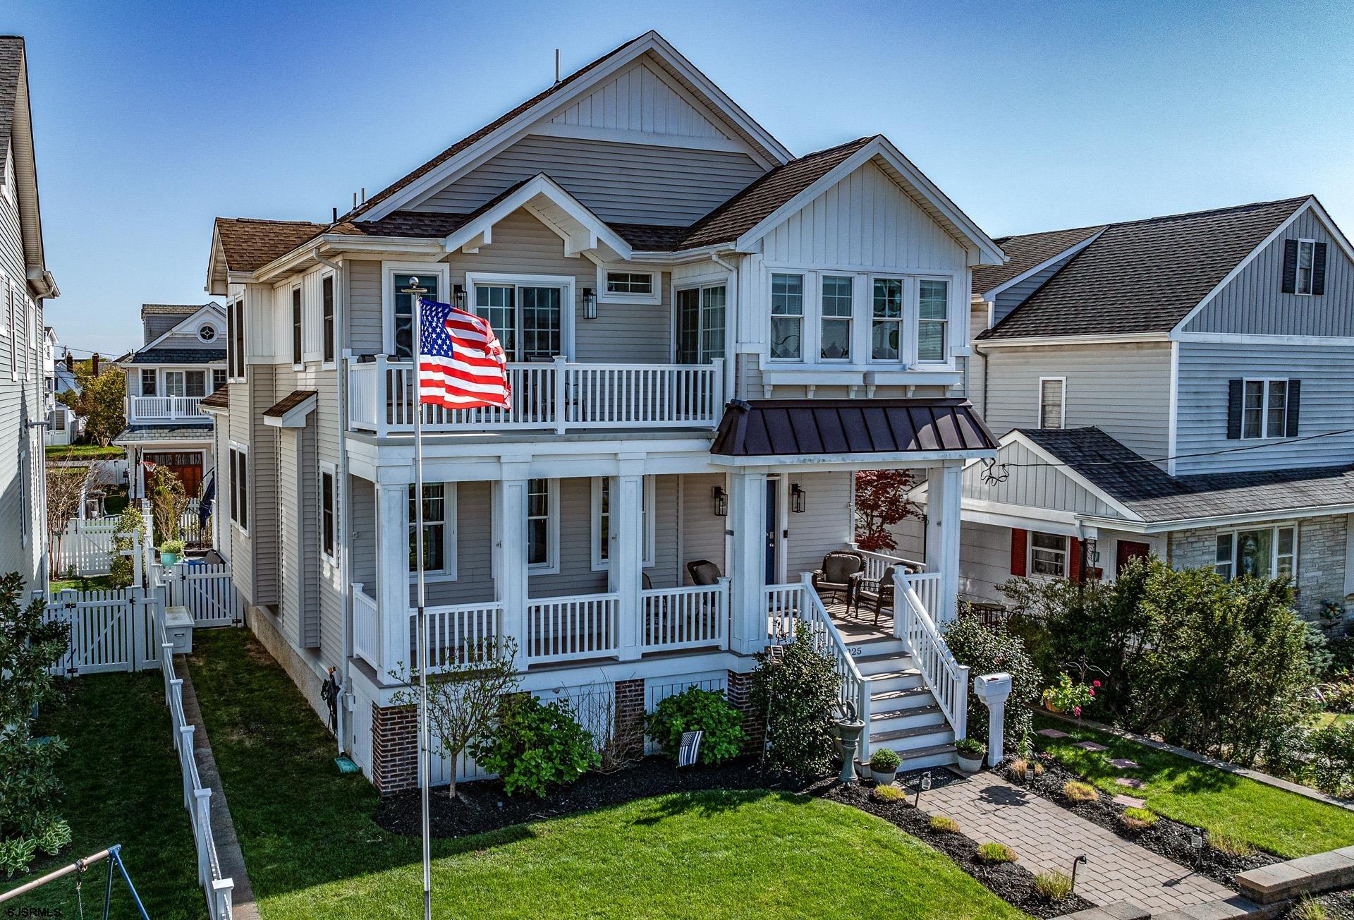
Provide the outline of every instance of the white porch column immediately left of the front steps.
[[728,648],[741,654],[766,645],[766,474],[734,473],[728,489],[730,634]]

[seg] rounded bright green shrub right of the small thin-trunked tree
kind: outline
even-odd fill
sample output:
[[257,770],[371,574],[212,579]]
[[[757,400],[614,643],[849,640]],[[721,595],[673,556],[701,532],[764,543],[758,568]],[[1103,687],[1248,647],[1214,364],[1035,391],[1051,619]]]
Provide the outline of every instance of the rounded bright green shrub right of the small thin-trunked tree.
[[593,738],[573,710],[531,694],[502,699],[493,737],[474,755],[481,767],[498,774],[509,795],[544,797],[547,787],[571,783],[598,763]]

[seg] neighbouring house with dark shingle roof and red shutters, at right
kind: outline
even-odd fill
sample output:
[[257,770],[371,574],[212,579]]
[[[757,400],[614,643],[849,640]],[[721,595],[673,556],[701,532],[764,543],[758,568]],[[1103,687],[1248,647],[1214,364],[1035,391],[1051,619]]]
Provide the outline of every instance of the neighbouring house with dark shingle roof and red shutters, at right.
[[1011,262],[974,271],[969,371],[1002,448],[964,472],[965,593],[1109,580],[1152,551],[1289,574],[1305,616],[1346,608],[1354,252],[1322,205],[998,243]]

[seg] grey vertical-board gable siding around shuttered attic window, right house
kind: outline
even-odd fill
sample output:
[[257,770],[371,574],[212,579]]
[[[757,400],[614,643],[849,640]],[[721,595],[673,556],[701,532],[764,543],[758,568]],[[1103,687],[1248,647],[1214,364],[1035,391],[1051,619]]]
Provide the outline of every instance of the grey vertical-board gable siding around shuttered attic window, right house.
[[[1284,244],[1326,244],[1326,290],[1284,293]],[[1354,263],[1307,209],[1185,325],[1186,332],[1258,336],[1354,336]]]

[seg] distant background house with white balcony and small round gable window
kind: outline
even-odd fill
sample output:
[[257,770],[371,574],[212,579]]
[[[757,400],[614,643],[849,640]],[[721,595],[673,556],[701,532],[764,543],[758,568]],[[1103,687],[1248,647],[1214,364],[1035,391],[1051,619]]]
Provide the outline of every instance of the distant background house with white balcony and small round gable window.
[[188,496],[217,466],[211,416],[198,408],[226,385],[226,312],[221,304],[142,304],[145,343],[118,359],[127,375],[127,428],[114,440],[127,451],[131,497],[146,495],[148,465],[168,466]]

